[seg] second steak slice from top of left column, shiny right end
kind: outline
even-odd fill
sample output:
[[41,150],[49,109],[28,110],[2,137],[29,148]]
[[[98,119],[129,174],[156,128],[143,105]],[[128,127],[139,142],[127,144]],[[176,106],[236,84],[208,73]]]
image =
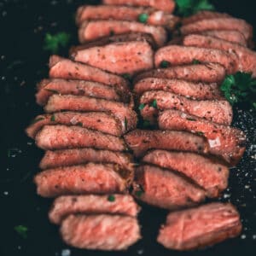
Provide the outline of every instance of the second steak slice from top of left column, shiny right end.
[[84,20],[129,20],[137,21],[142,14],[148,15],[146,23],[156,26],[174,28],[179,20],[176,16],[147,7],[130,7],[119,5],[84,5],[79,7],[76,22],[80,25]]

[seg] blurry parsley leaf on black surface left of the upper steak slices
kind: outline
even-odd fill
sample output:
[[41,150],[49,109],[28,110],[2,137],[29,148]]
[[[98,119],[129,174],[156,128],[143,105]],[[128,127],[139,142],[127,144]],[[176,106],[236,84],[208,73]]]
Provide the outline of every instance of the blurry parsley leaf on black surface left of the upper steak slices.
[[47,33],[44,38],[44,49],[56,54],[61,47],[66,47],[70,40],[67,32],[58,32],[55,35]]

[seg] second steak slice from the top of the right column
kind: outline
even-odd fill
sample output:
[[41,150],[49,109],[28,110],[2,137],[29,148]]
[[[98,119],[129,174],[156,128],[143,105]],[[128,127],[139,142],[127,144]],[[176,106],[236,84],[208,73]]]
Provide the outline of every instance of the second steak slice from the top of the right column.
[[241,32],[246,40],[253,38],[253,26],[245,20],[235,18],[217,18],[208,20],[198,20],[180,28],[183,35],[189,35],[208,30],[236,30]]

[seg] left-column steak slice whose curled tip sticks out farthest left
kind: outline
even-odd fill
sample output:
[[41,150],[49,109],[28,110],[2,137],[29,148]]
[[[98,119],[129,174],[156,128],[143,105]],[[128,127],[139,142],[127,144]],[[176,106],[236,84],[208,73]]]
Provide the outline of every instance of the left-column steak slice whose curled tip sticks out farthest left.
[[123,134],[122,125],[119,119],[107,112],[59,112],[53,114],[38,115],[32,125],[26,128],[28,137],[36,137],[38,131],[44,125],[79,125],[91,130],[120,137]]

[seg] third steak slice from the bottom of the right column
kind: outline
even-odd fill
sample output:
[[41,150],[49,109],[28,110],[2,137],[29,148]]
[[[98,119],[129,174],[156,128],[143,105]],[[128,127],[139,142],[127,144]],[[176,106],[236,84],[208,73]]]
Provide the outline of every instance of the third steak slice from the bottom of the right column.
[[205,189],[208,197],[218,197],[228,186],[229,169],[200,154],[154,150],[143,162],[180,172]]

